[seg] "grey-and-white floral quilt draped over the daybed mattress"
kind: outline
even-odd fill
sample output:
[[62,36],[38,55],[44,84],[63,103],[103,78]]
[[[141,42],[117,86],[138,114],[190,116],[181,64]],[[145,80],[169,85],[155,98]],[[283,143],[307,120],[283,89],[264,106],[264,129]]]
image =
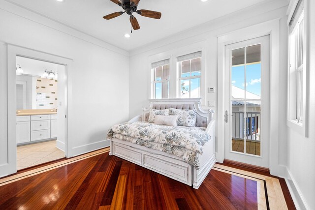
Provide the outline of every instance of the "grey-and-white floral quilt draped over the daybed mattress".
[[114,125],[109,129],[107,138],[117,138],[173,154],[199,169],[197,153],[202,154],[202,147],[211,136],[202,127],[173,127],[141,121]]

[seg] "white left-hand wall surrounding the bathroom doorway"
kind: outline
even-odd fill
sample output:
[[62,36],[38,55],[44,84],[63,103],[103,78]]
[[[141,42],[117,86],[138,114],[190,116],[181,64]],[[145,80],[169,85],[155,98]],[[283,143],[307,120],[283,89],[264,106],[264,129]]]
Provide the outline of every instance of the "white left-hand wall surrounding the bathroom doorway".
[[7,142],[13,141],[7,139],[6,43],[73,59],[69,154],[104,147],[110,126],[128,120],[128,53],[4,0],[0,29],[0,165],[7,162]]

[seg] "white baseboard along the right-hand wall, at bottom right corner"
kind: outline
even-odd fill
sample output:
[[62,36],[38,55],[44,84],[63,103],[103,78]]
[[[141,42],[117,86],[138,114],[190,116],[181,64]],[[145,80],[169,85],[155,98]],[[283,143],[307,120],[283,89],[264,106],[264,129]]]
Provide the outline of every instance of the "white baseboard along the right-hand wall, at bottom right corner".
[[289,171],[287,167],[285,168],[286,168],[287,178],[284,178],[284,180],[286,182],[287,188],[290,191],[290,194],[291,194],[291,197],[292,197],[292,200],[294,202],[296,209],[310,210],[291,172]]

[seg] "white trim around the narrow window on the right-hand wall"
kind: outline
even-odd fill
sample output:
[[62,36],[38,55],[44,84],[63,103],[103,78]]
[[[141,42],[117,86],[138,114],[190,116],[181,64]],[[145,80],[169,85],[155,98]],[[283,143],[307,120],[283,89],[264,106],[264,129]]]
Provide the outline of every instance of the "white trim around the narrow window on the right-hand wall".
[[[302,4],[301,4],[302,5]],[[290,26],[290,21],[293,17],[294,12],[297,10],[297,6],[299,6],[299,0],[296,0],[294,3],[293,9],[291,8],[291,14],[288,16],[287,21],[287,31],[288,31],[288,75],[287,75],[287,120],[286,125],[291,129],[295,130],[296,132],[300,133],[304,137],[308,137],[308,101],[307,92],[309,92],[309,81],[307,78],[309,77],[309,46],[308,43],[308,35],[307,35],[307,26],[308,26],[308,8],[306,7],[307,0],[303,1],[303,10],[298,17],[298,21],[295,23],[295,26]],[[303,55],[303,64],[300,66],[298,65],[298,37],[295,34],[297,28],[299,27],[300,21],[303,19],[303,45],[302,45],[302,55]],[[293,30],[292,30],[292,27]],[[295,39],[292,39],[292,34],[294,34]],[[294,43],[293,43],[294,42]],[[294,48],[294,49],[292,49]],[[294,55],[291,54],[294,52]],[[303,71],[303,78],[302,78],[302,120],[298,119],[297,115],[297,106],[298,106],[298,81],[297,81],[297,73],[299,70]]]

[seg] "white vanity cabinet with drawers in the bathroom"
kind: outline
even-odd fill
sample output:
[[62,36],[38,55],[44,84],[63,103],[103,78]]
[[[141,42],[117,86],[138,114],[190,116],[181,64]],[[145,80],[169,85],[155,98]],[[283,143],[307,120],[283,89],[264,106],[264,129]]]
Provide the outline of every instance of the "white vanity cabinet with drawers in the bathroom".
[[27,144],[57,138],[57,114],[16,117],[16,143]]

